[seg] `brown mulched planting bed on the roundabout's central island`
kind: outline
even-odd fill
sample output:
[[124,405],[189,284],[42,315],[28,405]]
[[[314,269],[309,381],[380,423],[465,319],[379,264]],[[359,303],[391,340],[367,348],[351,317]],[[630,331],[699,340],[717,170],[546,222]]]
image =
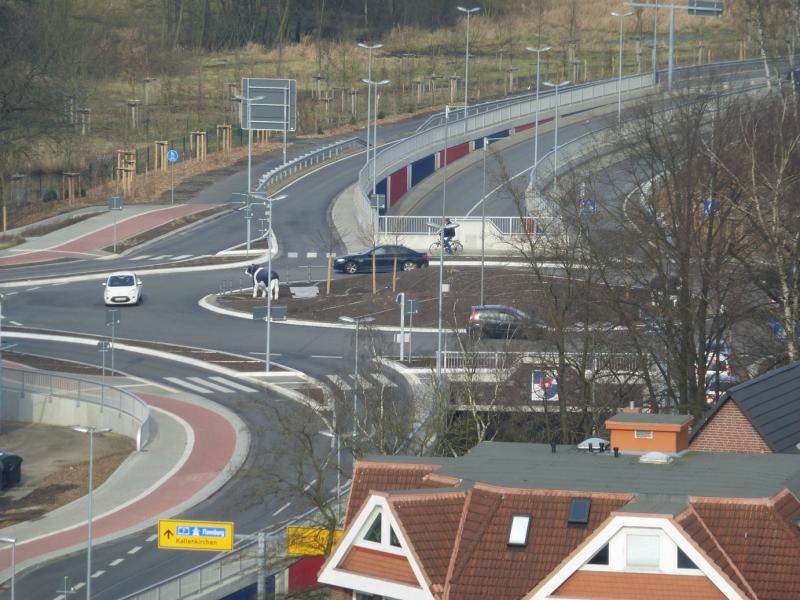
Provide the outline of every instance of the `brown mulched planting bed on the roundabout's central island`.
[[[524,268],[492,268],[485,270],[485,302],[487,304],[508,304],[527,313],[549,321],[546,306],[552,300],[546,299],[545,286],[550,294],[563,295],[562,302],[575,305],[574,319],[583,320],[588,309],[592,322],[614,322],[616,316],[607,306],[607,292],[596,287],[591,294],[584,290],[573,290],[573,297],[567,298],[567,288],[562,280],[538,281],[530,270]],[[444,295],[443,320],[448,328],[466,326],[470,307],[480,303],[480,268],[445,266],[444,282],[450,284],[450,292]],[[370,315],[375,325],[399,325],[400,310],[396,304],[397,294],[405,292],[406,299],[419,302],[419,313],[414,315],[414,327],[436,327],[439,311],[439,269],[428,267],[397,274],[395,289],[392,289],[392,274],[377,275],[378,293],[372,293],[372,275],[363,274],[335,279],[331,295],[325,296],[326,284],[308,284],[319,289],[316,298],[292,298],[289,286],[281,285],[280,299],[275,304],[286,305],[289,319],[311,321],[336,321],[339,316]],[[303,285],[292,286],[303,287]],[[550,298],[548,296],[547,298]],[[255,305],[263,305],[264,298],[253,299],[252,292],[234,293],[218,296],[219,306],[252,312]],[[587,305],[587,303],[589,303]],[[408,325],[409,319],[406,319]]]

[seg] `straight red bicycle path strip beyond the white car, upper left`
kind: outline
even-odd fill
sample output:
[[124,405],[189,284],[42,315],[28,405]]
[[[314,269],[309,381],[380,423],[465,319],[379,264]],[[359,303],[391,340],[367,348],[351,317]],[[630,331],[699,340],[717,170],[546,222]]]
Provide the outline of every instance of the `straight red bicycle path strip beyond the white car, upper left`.
[[[187,215],[192,215],[216,206],[215,204],[181,204],[157,208],[146,213],[126,218],[116,226],[117,242],[160,227]],[[32,250],[18,255],[0,258],[0,266],[22,265],[62,258],[85,258],[87,253],[108,248],[114,244],[114,225],[107,225],[69,242],[44,250]]]

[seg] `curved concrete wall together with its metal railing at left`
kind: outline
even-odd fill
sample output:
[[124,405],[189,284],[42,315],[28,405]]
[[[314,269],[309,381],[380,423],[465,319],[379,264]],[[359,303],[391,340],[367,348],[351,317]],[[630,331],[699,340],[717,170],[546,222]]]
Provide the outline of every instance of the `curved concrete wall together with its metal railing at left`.
[[109,426],[134,438],[137,450],[150,441],[150,407],[135,394],[114,386],[4,366],[2,388],[4,419]]

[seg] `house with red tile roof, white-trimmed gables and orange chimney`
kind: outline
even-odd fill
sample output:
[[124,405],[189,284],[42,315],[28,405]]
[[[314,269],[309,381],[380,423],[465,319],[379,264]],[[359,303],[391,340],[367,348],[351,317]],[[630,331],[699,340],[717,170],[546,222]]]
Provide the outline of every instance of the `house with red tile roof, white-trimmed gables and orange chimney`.
[[800,457],[689,452],[689,423],[361,460],[319,581],[335,600],[800,598]]

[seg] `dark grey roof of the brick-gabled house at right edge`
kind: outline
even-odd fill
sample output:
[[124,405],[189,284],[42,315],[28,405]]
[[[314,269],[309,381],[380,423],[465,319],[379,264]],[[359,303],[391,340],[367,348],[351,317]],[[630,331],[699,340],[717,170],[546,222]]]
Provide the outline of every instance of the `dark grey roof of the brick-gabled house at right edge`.
[[800,362],[768,371],[728,390],[692,431],[692,437],[731,399],[773,452],[797,452],[800,443]]

